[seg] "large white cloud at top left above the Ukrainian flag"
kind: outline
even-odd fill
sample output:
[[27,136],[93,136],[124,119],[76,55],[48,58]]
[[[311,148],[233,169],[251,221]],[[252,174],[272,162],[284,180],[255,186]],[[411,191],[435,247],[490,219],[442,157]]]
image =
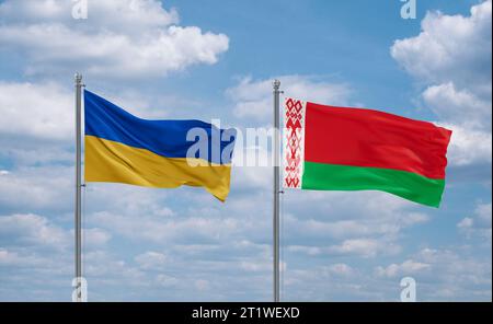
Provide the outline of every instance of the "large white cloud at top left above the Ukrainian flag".
[[[159,77],[214,65],[229,47],[223,34],[179,26],[175,10],[157,0],[90,1],[89,19],[71,19],[64,0],[8,0],[0,5],[0,42],[27,59],[27,73]],[[72,71],[73,72],[73,71]]]

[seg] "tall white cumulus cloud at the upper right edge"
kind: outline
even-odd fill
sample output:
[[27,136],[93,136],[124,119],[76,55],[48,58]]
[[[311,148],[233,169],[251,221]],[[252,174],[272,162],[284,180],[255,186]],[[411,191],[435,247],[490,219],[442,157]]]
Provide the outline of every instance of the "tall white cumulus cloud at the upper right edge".
[[451,165],[491,164],[492,1],[470,15],[428,12],[422,32],[395,40],[392,57],[422,84],[423,101],[455,131]]

